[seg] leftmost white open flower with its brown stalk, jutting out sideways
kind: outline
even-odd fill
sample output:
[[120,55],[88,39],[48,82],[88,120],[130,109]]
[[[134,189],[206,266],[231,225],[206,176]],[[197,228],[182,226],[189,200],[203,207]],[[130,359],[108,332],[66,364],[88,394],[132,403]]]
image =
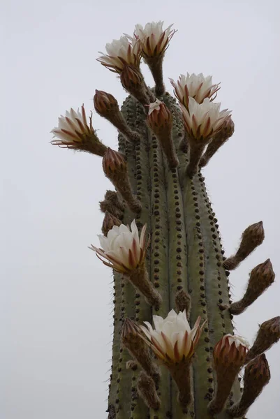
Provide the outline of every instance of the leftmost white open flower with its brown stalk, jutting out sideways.
[[97,156],[104,156],[107,147],[98,139],[92,126],[92,116],[87,116],[82,105],[81,112],[75,112],[71,108],[70,112],[66,111],[66,116],[59,118],[59,126],[51,131],[57,140],[52,140],[52,145],[58,145],[62,148],[80,150],[89,152]]

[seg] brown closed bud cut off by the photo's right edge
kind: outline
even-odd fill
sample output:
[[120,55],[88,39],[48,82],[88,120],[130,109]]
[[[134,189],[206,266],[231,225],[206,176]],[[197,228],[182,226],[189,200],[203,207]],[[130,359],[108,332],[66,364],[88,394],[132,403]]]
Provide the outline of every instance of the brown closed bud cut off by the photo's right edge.
[[258,335],[250,351],[246,355],[246,362],[249,362],[276,344],[280,339],[280,316],[270,318],[260,325]]

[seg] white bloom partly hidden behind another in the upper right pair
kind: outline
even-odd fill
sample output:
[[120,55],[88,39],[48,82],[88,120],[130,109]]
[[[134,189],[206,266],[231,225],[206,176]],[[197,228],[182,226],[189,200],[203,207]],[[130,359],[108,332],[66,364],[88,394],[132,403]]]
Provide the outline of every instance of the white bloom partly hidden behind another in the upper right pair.
[[196,99],[196,102],[202,103],[205,98],[211,99],[216,91],[220,89],[219,84],[212,83],[212,75],[207,75],[205,78],[202,73],[200,74],[181,74],[177,83],[170,78],[170,82],[174,87],[174,94],[178,101],[188,108],[189,96]]

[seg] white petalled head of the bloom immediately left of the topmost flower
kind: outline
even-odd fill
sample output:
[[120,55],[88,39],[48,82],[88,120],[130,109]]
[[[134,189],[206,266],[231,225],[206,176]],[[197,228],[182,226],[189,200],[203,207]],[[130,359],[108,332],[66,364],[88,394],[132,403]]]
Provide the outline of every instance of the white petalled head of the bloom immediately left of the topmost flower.
[[121,73],[126,64],[139,67],[140,65],[140,41],[128,36],[121,36],[119,39],[114,39],[112,43],[106,44],[106,52],[99,52],[102,54],[97,59],[101,64],[107,67],[114,73]]

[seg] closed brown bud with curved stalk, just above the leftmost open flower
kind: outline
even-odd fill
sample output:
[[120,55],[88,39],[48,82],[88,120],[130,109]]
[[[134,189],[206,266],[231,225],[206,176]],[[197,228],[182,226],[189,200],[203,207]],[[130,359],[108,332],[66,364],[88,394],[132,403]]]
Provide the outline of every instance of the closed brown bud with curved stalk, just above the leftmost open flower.
[[136,131],[132,131],[119,110],[117,99],[110,93],[102,90],[96,90],[94,95],[94,108],[98,115],[107,119],[114,125],[120,133],[124,135],[128,142],[140,141],[140,135]]

